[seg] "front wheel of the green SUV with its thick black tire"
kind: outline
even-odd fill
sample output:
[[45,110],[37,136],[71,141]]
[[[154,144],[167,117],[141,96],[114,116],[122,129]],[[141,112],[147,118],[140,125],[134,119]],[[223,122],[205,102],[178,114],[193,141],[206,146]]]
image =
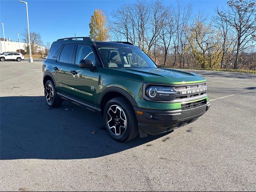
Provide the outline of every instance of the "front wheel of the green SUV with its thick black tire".
[[[116,110],[114,109],[116,106],[118,107],[118,110],[117,108]],[[117,117],[114,117],[115,113],[113,109],[116,112],[120,111],[120,114],[118,114],[119,112],[116,113]],[[120,117],[121,120],[120,118],[118,118],[118,116],[119,117],[122,116],[122,118]],[[123,119],[126,120],[125,123]],[[138,135],[138,123],[137,123],[136,115],[134,113],[132,105],[124,97],[113,98],[107,102],[106,106],[104,107],[104,122],[106,124],[106,130],[108,131],[110,136],[115,140],[117,140],[118,142],[130,141]],[[124,124],[126,125],[125,128],[124,128]],[[114,128],[111,129],[110,126]],[[120,126],[122,128],[120,128]],[[116,135],[116,133],[120,135]]]

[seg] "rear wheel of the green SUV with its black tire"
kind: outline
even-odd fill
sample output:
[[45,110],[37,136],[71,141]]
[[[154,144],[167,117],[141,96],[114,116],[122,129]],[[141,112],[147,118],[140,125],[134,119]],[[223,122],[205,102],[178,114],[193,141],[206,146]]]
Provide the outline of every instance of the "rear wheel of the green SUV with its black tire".
[[48,80],[44,85],[44,98],[50,107],[57,108],[62,104],[62,100],[58,98],[56,88],[52,80]]

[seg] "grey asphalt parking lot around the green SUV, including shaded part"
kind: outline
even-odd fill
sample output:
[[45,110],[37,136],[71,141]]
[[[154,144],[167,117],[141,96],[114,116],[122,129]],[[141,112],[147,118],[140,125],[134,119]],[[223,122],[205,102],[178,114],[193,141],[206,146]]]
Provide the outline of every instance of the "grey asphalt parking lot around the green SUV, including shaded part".
[[255,191],[256,75],[188,71],[208,80],[210,110],[118,143],[100,115],[46,105],[42,60],[0,62],[0,190]]

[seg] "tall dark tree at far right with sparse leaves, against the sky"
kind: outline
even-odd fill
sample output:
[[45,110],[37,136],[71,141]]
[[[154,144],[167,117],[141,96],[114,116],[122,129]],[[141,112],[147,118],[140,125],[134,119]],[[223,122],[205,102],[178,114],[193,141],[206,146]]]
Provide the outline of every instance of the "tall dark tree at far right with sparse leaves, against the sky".
[[239,52],[252,47],[256,40],[256,2],[255,0],[229,0],[228,6],[228,10],[218,11],[218,15],[236,30],[234,69],[237,69]]

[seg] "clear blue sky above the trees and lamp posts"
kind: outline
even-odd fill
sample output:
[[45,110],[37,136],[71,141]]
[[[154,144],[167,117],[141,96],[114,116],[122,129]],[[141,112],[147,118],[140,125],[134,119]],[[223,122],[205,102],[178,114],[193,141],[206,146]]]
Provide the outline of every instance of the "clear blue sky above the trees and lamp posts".
[[[26,1],[26,0],[24,0]],[[42,41],[53,42],[58,38],[88,36],[90,16],[95,8],[102,9],[111,19],[110,13],[122,4],[136,0],[27,0],[30,32],[38,32]],[[150,1],[149,1],[150,2]],[[165,4],[176,0],[164,0]],[[205,10],[211,16],[216,6],[227,7],[227,0],[183,0],[191,2],[193,13]],[[16,33],[22,33],[27,27],[26,5],[19,0],[0,0],[0,22],[4,23],[5,38],[17,41]],[[3,37],[0,26],[0,37]]]

